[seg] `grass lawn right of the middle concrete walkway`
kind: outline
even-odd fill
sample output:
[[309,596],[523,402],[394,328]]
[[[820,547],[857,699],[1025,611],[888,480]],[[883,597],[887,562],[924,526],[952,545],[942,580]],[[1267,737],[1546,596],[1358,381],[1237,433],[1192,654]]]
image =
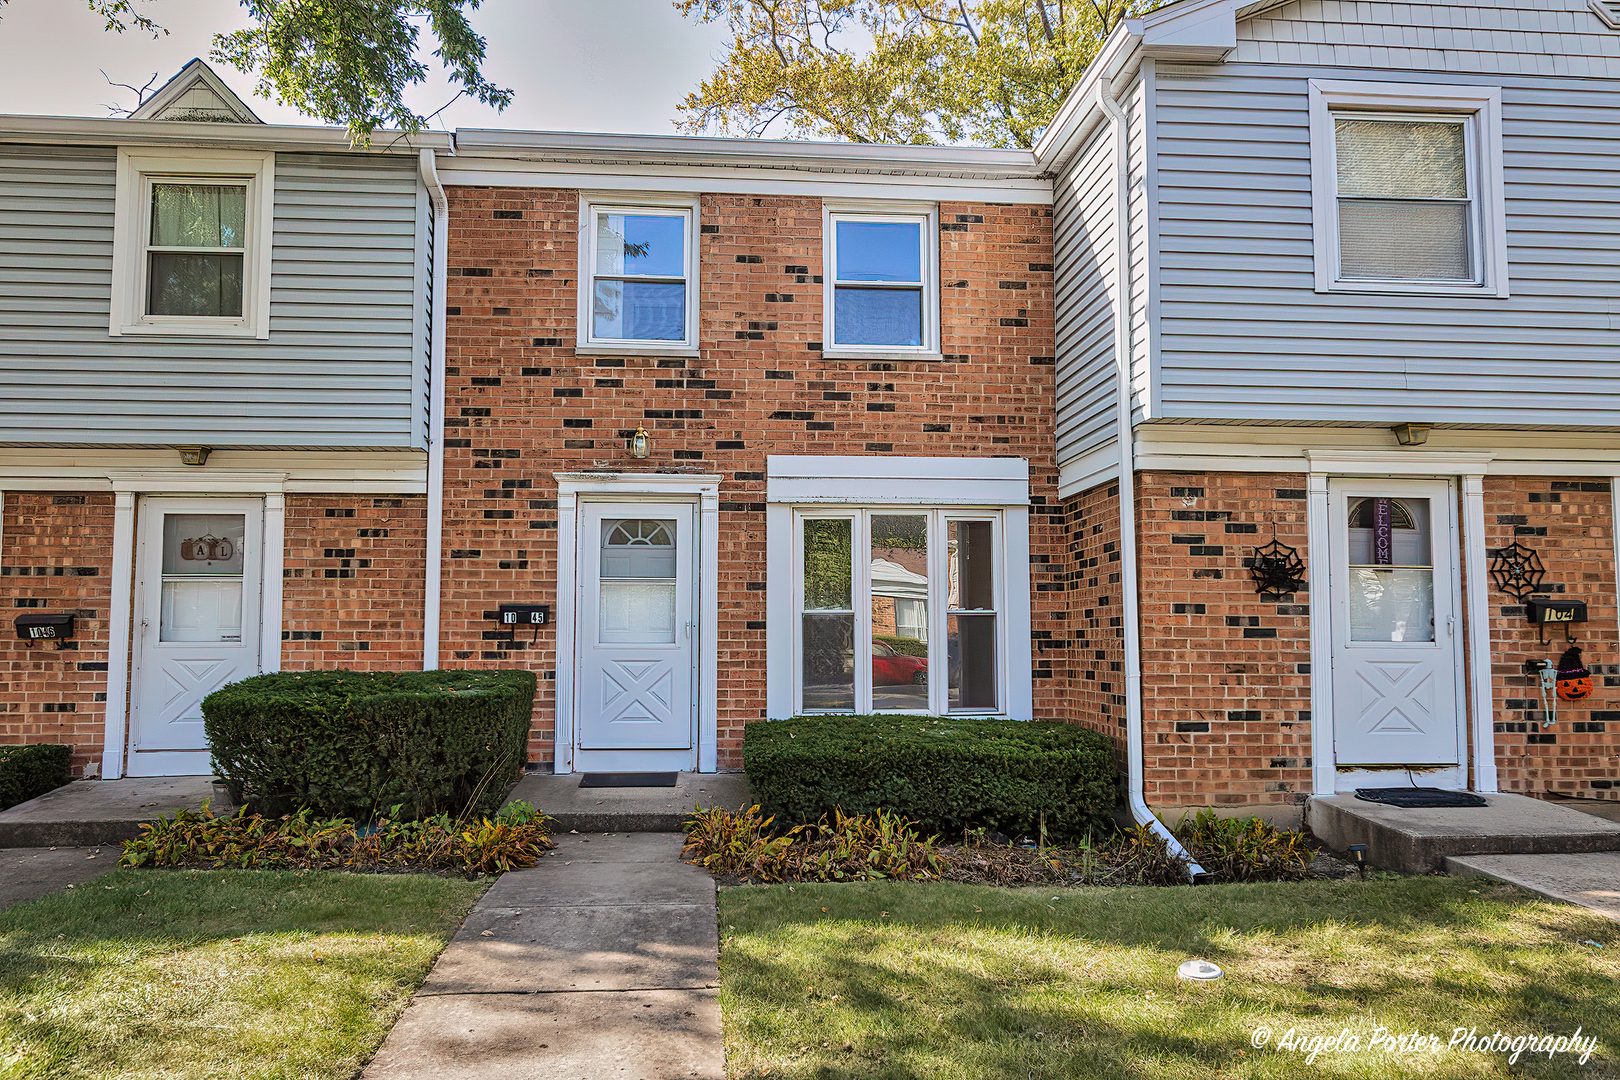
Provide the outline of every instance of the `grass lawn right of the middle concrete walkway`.
[[[1604,947],[1581,944],[1599,941]],[[1181,889],[800,884],[721,892],[734,1078],[1620,1075],[1620,925],[1481,879]],[[1178,983],[1189,957],[1217,983]],[[1270,1044],[1257,1049],[1257,1027]],[[1456,1027],[1547,1054],[1278,1049]]]

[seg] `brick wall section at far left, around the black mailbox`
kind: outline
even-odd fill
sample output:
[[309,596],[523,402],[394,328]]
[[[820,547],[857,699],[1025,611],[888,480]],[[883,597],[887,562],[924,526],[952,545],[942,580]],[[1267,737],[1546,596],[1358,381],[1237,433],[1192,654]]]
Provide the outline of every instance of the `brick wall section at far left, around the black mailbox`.
[[[68,743],[100,761],[112,601],[112,494],[6,492],[0,525],[0,743]],[[73,638],[19,641],[24,612],[71,612]]]

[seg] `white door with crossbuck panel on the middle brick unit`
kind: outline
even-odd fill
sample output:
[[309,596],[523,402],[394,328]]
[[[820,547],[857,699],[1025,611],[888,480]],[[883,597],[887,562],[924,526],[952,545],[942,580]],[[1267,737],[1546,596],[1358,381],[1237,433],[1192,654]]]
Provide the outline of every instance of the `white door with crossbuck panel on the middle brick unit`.
[[687,502],[580,504],[580,750],[695,745],[695,518]]

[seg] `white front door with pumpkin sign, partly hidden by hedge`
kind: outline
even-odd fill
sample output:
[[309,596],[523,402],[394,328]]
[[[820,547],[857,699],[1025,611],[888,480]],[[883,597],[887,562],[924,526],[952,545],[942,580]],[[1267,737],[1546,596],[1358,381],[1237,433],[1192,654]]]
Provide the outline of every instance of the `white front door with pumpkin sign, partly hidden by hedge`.
[[259,672],[258,499],[147,499],[136,551],[128,776],[209,772],[202,698]]

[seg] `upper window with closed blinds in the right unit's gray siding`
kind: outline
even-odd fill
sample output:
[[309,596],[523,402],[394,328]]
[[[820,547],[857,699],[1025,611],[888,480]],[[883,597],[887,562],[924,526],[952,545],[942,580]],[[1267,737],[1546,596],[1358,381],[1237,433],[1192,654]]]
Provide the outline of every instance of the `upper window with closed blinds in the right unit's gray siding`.
[[1319,291],[1507,295],[1500,92],[1311,81]]

